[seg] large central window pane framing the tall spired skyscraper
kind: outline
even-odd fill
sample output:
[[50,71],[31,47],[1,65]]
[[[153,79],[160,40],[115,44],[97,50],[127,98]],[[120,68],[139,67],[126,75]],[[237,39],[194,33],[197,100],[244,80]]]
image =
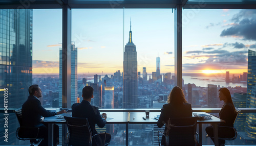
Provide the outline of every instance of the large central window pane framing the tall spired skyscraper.
[[80,100],[91,85],[100,108],[166,103],[174,85],[172,9],[72,9],[72,40]]

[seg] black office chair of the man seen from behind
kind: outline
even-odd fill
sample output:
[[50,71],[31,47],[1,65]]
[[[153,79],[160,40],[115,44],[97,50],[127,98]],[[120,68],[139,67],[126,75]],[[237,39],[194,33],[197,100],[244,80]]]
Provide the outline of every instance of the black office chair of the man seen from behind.
[[[100,133],[105,133],[105,139],[106,139],[106,132],[100,132],[95,135],[92,135],[91,128],[88,123],[87,118],[78,118],[78,117],[68,117],[64,116],[66,119],[66,123],[69,129],[69,133],[67,136],[68,144],[73,146],[80,146],[80,145],[89,145],[92,146],[93,138],[99,137]],[[100,137],[99,137],[100,139]],[[97,140],[99,140],[97,139]],[[109,143],[105,143],[104,141],[101,141],[99,143],[102,143],[101,145],[108,145]]]

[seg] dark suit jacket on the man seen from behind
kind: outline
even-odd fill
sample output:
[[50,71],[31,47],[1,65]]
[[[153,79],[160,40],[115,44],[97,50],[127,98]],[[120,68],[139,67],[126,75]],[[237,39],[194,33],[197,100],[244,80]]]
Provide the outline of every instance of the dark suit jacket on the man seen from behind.
[[103,128],[106,124],[106,120],[99,113],[99,108],[92,106],[90,102],[84,100],[81,103],[72,105],[72,116],[88,118],[93,135],[97,133],[95,124],[100,128]]

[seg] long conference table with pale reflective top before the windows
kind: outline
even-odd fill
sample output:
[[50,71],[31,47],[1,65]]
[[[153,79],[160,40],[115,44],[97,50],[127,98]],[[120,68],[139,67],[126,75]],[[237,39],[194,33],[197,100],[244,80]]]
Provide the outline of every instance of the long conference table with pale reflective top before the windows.
[[[103,112],[102,112],[103,113]],[[125,142],[128,145],[128,131],[129,124],[157,124],[157,115],[160,115],[160,112],[150,112],[149,116],[146,117],[145,112],[105,112],[108,116],[106,124],[125,124]],[[193,115],[197,114],[208,114],[206,112],[193,112]],[[143,117],[145,119],[143,119]],[[41,123],[48,124],[48,145],[53,145],[53,124],[66,124],[65,119],[58,118],[56,116],[45,117]],[[224,120],[212,116],[209,119],[198,119],[197,124],[199,125],[199,144],[202,145],[202,124],[212,124],[214,127],[214,138],[215,145],[219,145],[218,141],[218,124],[225,123]],[[65,132],[62,131],[62,134]],[[62,140],[63,143],[63,140]],[[63,144],[62,144],[63,145]]]

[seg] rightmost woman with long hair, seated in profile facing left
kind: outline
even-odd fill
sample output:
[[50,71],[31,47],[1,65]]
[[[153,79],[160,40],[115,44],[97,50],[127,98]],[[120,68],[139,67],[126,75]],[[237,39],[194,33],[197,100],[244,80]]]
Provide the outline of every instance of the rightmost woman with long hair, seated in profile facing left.
[[[227,127],[233,127],[234,120],[236,120],[237,113],[236,109],[234,108],[230,92],[227,88],[221,88],[219,90],[219,98],[220,101],[224,101],[224,105],[222,106],[219,116],[221,119],[225,120],[225,123],[220,124],[220,126],[227,126]],[[214,136],[214,128],[212,126],[206,127],[205,129],[206,133],[213,137]],[[223,138],[229,138],[234,136],[234,130],[224,127],[218,127],[218,136]],[[214,141],[214,138],[211,138],[212,141]],[[219,139],[219,145],[224,145],[225,140]]]

